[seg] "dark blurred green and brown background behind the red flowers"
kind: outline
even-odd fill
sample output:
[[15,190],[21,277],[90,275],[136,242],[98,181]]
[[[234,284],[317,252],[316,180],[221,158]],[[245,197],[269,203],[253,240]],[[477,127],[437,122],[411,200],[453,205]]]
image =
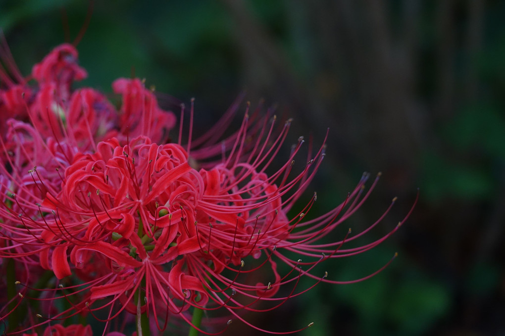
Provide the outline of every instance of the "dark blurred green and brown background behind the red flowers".
[[[23,74],[78,35],[88,5],[0,0]],[[504,335],[504,17],[505,2],[479,0],[96,1],[79,85],[111,92],[134,73],[180,101],[196,97],[196,133],[244,90],[253,106],[264,98],[294,118],[288,142],[312,135],[317,146],[329,127],[312,211],[341,202],[363,171],[383,177],[349,226],[365,228],[399,197],[362,244],[392,230],[420,188],[391,239],[326,266],[346,281],[398,251],[385,271],[319,285],[246,315],[252,323],[286,331],[314,321],[305,335]],[[238,333],[258,334],[237,321],[228,334]]]

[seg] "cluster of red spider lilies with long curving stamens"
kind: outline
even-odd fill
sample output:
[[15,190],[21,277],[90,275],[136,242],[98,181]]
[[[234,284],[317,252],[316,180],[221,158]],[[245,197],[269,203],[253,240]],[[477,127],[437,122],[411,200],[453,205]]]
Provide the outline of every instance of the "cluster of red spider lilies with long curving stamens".
[[[164,330],[169,322],[177,325],[172,317],[203,331],[194,316],[203,310],[212,320],[217,308],[251,325],[239,310],[268,311],[306,292],[296,290],[304,275],[314,285],[338,284],[327,273],[314,274],[314,267],[367,251],[399,226],[367,245],[342,248],[388,208],[364,232],[329,237],[367,199],[377,182],[365,192],[368,175],[328,213],[308,215],[314,194],[293,214],[324,146],[293,172],[300,138],[272,173],[290,121],[262,118],[261,108],[250,112],[247,104],[241,127],[225,137],[237,102],[209,133],[190,136],[182,146],[180,135],[178,143],[168,141],[174,114],[159,107],[142,81],[113,83],[120,108],[94,89],[73,90],[86,71],[72,45],[55,48],[26,79],[6,45],[0,56],[6,65],[0,69],[0,266],[6,284],[0,285],[0,320],[10,333],[88,335],[89,326],[58,324],[87,315],[106,323],[104,333],[114,328],[111,335],[135,320],[139,331],[145,321],[154,332]],[[192,113],[193,102],[190,124]],[[278,261],[288,265],[286,274]],[[258,282],[258,276],[270,281]],[[291,292],[276,296],[283,285]],[[272,305],[260,309],[258,301]],[[216,316],[203,332],[222,331],[228,318]]]

